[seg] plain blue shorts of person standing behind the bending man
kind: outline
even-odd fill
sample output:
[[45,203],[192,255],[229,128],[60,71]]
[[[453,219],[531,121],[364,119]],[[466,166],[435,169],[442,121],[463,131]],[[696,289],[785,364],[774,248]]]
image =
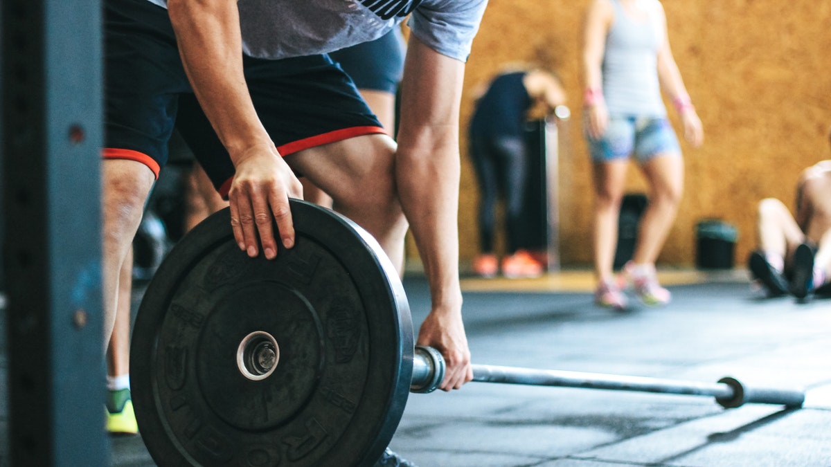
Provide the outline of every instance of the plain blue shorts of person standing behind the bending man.
[[404,73],[404,37],[397,27],[371,42],[332,52],[358,89],[395,94]]

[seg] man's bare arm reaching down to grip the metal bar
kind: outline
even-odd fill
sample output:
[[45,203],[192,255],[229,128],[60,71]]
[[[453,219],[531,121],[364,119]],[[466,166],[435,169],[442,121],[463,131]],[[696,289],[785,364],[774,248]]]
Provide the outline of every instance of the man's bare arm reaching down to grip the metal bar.
[[459,284],[459,107],[465,64],[411,35],[401,82],[396,183],[430,283],[417,343],[445,356],[441,389],[473,378]]

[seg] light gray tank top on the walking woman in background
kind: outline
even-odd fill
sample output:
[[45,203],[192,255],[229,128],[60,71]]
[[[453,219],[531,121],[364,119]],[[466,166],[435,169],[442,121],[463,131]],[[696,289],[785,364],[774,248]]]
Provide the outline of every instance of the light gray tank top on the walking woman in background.
[[647,2],[648,19],[641,22],[632,19],[619,0],[611,0],[615,19],[606,37],[602,63],[603,97],[609,113],[666,116],[657,68],[665,32],[656,1]]

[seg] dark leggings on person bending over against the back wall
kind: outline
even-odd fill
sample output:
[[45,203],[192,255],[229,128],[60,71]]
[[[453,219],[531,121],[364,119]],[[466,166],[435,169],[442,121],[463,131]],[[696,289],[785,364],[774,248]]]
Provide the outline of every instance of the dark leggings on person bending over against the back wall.
[[505,201],[505,233],[508,253],[519,248],[525,195],[525,142],[521,138],[497,137],[470,140],[470,156],[479,181],[479,247],[494,251],[494,209],[499,192]]

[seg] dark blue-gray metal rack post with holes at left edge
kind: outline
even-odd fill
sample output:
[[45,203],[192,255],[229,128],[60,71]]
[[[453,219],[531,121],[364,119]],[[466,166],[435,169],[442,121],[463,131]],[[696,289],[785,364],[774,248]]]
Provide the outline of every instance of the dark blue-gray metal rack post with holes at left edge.
[[109,465],[101,307],[101,0],[2,0],[12,465]]

